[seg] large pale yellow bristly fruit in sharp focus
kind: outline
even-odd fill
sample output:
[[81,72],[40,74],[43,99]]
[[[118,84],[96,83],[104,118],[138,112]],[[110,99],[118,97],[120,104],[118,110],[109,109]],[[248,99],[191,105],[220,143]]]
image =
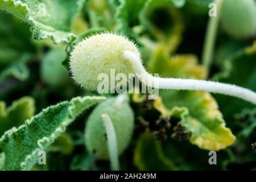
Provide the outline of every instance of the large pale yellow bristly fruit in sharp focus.
[[71,53],[70,67],[75,81],[83,88],[97,90],[101,73],[110,78],[110,69],[115,74],[134,73],[129,61],[123,58],[123,52],[131,51],[138,57],[137,46],[121,35],[111,33],[96,34],[82,40]]

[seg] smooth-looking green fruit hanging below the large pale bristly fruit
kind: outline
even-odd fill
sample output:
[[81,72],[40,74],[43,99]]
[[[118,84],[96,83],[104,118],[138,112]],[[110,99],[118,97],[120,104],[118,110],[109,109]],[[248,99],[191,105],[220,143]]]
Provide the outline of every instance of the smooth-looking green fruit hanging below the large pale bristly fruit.
[[129,105],[129,98],[125,94],[108,98],[108,100],[101,102],[90,114],[85,126],[86,148],[97,159],[108,160],[108,141],[102,114],[108,114],[112,120],[119,155],[129,145],[134,129],[134,114]]

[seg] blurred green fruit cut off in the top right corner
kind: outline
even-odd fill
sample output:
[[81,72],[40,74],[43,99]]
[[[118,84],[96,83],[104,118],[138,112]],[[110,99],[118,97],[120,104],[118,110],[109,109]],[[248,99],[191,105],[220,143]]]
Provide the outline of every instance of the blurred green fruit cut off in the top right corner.
[[221,13],[223,30],[237,39],[256,33],[256,5],[254,0],[225,0]]

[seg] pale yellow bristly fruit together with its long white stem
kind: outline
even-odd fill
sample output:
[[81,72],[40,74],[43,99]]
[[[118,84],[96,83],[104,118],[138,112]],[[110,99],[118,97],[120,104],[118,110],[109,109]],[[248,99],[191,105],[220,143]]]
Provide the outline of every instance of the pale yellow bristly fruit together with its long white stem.
[[[121,35],[104,33],[90,36],[71,53],[71,71],[76,82],[86,89],[97,90],[98,75],[110,69],[115,73],[136,73],[143,84],[155,89],[198,90],[238,97],[256,105],[256,93],[241,86],[206,80],[160,78],[147,73],[137,46]],[[143,75],[143,77],[140,77]],[[146,77],[145,77],[146,76]]]

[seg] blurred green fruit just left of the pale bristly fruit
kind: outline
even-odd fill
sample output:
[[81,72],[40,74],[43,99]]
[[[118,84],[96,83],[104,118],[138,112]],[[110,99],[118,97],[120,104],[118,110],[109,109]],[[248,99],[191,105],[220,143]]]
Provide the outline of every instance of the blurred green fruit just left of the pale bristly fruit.
[[52,49],[43,58],[41,76],[44,82],[52,86],[59,86],[69,80],[68,71],[61,62],[65,59],[62,49]]

